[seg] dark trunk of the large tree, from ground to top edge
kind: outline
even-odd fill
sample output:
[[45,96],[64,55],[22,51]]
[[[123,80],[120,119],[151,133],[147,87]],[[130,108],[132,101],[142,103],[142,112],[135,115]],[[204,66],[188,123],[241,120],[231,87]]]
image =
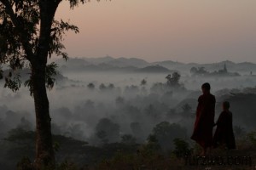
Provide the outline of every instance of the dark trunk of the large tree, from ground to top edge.
[[45,69],[49,52],[49,39],[52,21],[58,4],[52,0],[39,1],[40,8],[40,36],[38,48],[31,60],[32,65],[32,93],[35,102],[37,141],[36,160],[37,170],[54,169],[55,154],[52,144],[52,134],[49,116],[49,100],[45,88]]

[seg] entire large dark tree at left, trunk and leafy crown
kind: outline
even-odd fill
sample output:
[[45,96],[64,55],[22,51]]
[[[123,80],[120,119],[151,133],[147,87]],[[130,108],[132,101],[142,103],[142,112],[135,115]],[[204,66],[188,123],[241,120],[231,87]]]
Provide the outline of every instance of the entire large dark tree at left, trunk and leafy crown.
[[[55,12],[62,0],[0,0],[0,62],[9,65],[4,87],[17,91],[20,75],[17,70],[25,67],[31,71],[26,85],[34,98],[37,140],[36,169],[55,167],[55,156],[50,130],[49,100],[46,87],[52,88],[57,72],[55,64],[48,65],[52,54],[67,59],[61,43],[65,31],[79,32],[77,26],[55,20]],[[86,0],[69,0],[70,8]],[[45,86],[46,85],[46,86]]]

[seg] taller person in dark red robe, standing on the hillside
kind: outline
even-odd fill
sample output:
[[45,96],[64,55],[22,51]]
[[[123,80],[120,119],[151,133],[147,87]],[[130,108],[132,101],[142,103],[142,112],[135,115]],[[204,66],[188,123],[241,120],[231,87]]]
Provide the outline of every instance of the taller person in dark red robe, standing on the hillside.
[[201,86],[202,95],[198,99],[194,132],[191,139],[201,145],[201,155],[207,154],[207,148],[212,147],[212,129],[214,125],[215,103],[214,95],[210,93],[211,86],[208,82]]

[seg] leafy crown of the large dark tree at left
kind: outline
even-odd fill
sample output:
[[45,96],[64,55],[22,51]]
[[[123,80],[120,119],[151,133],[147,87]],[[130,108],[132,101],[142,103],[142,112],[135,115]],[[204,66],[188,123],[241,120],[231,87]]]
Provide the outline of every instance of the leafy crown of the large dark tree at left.
[[[99,1],[99,0],[97,0]],[[52,54],[67,59],[61,43],[66,31],[79,32],[79,28],[63,20],[55,20],[55,11],[63,0],[0,0],[0,66],[8,65],[9,73],[0,68],[5,87],[20,88],[17,70],[31,68],[35,63],[46,65]],[[69,0],[70,8],[90,0]],[[50,8],[49,8],[50,7]],[[57,65],[46,67],[46,86],[52,88]],[[31,87],[30,82],[26,85]],[[32,89],[31,89],[32,90]]]

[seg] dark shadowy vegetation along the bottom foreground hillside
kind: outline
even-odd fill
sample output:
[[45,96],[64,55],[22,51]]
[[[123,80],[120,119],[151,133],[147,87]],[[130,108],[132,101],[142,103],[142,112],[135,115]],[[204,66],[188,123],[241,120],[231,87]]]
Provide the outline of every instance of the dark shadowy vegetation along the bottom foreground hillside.
[[[164,124],[166,122],[163,122]],[[162,123],[162,124],[163,124]],[[160,126],[160,125],[157,125]],[[162,126],[162,125],[161,125]],[[159,127],[154,127],[159,128]],[[35,155],[35,134],[17,127],[1,140],[1,169],[32,169]],[[54,135],[57,166],[60,170],[82,169],[253,169],[256,163],[256,132],[246,133],[236,140],[236,150],[224,147],[212,150],[211,156],[198,157],[201,148],[187,139],[173,139],[172,150],[164,149],[161,136],[152,133],[143,144],[130,135],[118,143],[92,146],[87,142]],[[166,138],[168,138],[166,134]],[[169,137],[170,138],[170,137]]]

